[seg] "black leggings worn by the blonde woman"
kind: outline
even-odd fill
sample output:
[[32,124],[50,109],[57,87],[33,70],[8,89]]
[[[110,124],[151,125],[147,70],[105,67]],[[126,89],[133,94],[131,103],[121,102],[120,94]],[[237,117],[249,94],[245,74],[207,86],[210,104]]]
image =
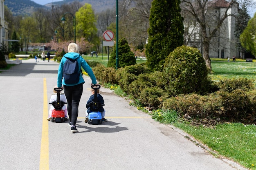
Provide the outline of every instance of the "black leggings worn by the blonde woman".
[[83,84],[75,86],[63,86],[64,93],[67,98],[67,113],[70,118],[71,125],[76,126],[78,117],[78,106],[83,93]]

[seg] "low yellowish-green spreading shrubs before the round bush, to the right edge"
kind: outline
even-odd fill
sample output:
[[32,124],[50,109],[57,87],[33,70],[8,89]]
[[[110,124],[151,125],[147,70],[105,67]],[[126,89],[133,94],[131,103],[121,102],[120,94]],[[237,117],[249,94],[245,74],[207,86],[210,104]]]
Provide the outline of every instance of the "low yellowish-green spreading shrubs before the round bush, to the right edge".
[[[238,84],[238,85],[237,85]],[[196,118],[222,117],[231,121],[255,121],[256,90],[252,80],[225,79],[220,90],[209,95],[187,94],[171,97],[163,102],[164,109],[174,109],[181,116]]]

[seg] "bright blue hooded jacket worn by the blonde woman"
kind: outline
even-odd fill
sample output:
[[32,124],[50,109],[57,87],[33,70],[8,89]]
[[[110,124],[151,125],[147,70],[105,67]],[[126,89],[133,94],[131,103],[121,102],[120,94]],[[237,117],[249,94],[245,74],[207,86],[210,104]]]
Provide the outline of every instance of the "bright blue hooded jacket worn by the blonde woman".
[[83,79],[83,75],[80,74],[79,82],[77,82],[75,84],[65,84],[64,78],[63,78],[63,64],[67,60],[65,57],[70,58],[72,60],[76,59],[77,62],[78,62],[79,70],[81,69],[81,66],[82,66],[83,69],[85,70],[85,72],[88,73],[88,75],[92,79],[92,84],[97,83],[96,77],[95,77],[94,73],[92,72],[92,68],[90,68],[90,66],[87,64],[87,62],[83,59],[83,57],[79,53],[73,53],[72,52],[72,53],[66,53],[64,55],[64,57],[62,57],[62,59],[61,59],[60,65],[58,67],[58,79],[57,79],[57,86],[58,87],[62,87],[62,84],[66,85],[66,86],[75,86],[77,84],[85,83],[85,81]]

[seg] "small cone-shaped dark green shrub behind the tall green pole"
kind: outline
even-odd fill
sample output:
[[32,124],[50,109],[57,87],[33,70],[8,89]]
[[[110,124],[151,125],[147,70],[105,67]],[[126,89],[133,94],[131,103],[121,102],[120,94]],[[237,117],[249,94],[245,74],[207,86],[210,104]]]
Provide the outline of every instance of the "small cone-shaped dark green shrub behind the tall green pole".
[[[116,49],[114,44],[113,49]],[[117,51],[113,50],[108,61],[108,67],[116,68],[116,55]],[[118,41],[118,67],[125,67],[136,64],[136,58],[134,53],[130,50],[130,46],[125,38]]]

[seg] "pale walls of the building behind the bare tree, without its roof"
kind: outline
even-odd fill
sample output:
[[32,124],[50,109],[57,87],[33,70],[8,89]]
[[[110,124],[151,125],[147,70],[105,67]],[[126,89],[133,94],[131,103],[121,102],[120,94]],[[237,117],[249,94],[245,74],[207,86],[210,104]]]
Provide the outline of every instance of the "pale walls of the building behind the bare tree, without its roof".
[[[226,11],[226,7],[216,7],[212,11],[207,11],[209,13],[209,17],[211,16],[222,16]],[[228,15],[238,14],[238,3],[235,3],[231,6],[228,10]],[[213,20],[216,18],[212,18]],[[235,37],[235,23],[236,18],[234,16],[228,16],[220,29],[216,32],[216,35],[212,38],[210,42],[210,50],[209,50],[209,57],[211,58],[232,58],[233,55],[238,57],[238,49],[236,48],[236,42],[238,39]],[[209,29],[215,28],[215,22],[209,22]],[[185,25],[189,26],[189,25]],[[191,26],[191,25],[190,25]],[[197,27],[197,28],[196,28]],[[185,43],[188,46],[197,47],[202,53],[202,43],[200,39],[200,28],[198,26],[191,26],[189,28],[189,33],[187,35],[195,34],[195,36],[190,36],[190,38],[186,39]]]

